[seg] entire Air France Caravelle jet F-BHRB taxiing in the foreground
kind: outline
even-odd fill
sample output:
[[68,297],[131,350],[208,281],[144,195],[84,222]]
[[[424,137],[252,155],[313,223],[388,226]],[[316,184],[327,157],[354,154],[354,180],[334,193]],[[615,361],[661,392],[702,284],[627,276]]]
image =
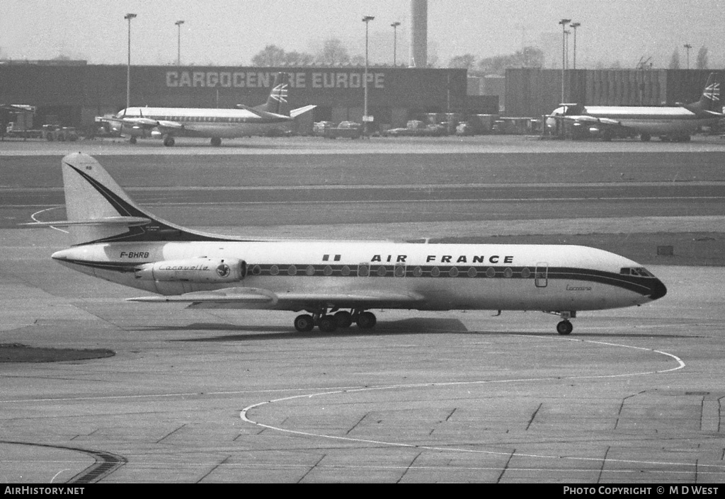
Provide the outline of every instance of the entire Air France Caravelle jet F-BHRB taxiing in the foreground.
[[664,284],[601,249],[548,244],[272,242],[191,231],[138,207],[85,154],[62,160],[74,245],[59,263],[189,308],[289,310],[297,331],[375,325],[370,309],[541,310],[560,334],[579,310],[642,305]]

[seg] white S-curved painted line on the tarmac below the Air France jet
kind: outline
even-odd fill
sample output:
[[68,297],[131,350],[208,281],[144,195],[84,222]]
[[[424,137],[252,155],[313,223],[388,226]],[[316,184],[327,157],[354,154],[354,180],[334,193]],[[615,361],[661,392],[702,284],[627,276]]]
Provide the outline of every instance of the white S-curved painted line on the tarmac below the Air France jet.
[[[548,337],[541,337],[544,339],[548,339]],[[415,383],[415,384],[393,384],[383,387],[361,387],[361,388],[355,388],[355,389],[335,389],[328,392],[318,392],[318,393],[311,393],[306,395],[293,395],[291,397],[282,397],[274,400],[268,400],[265,402],[260,402],[252,405],[248,405],[246,408],[242,409],[239,412],[239,417],[242,421],[254,424],[255,426],[260,426],[265,429],[271,429],[276,430],[278,432],[284,432],[289,434],[297,434],[301,435],[303,437],[319,437],[319,438],[326,438],[330,440],[342,440],[345,442],[358,442],[358,443],[368,443],[373,445],[386,445],[389,447],[398,447],[398,448],[415,448],[415,449],[422,449],[422,450],[437,450],[437,451],[446,451],[446,452],[461,452],[461,453],[470,453],[470,454],[486,454],[486,455],[511,455],[510,452],[497,452],[494,450],[476,450],[476,449],[465,449],[465,448],[452,448],[452,447],[437,447],[434,445],[416,445],[416,444],[406,444],[404,442],[386,442],[384,440],[369,440],[369,439],[360,439],[360,438],[352,438],[352,437],[339,437],[336,435],[327,435],[327,434],[320,434],[320,433],[313,433],[313,432],[301,432],[299,430],[293,430],[293,429],[285,429],[281,428],[279,426],[272,426],[270,424],[263,424],[258,421],[254,421],[250,419],[247,415],[249,414],[249,411],[252,411],[252,409],[260,408],[262,405],[267,405],[271,403],[280,403],[280,402],[286,402],[288,400],[295,400],[300,398],[312,398],[312,397],[323,397],[327,395],[340,395],[343,393],[354,393],[354,392],[372,392],[375,390],[392,390],[392,389],[415,389],[415,388],[425,388],[425,387],[450,387],[450,386],[465,386],[465,385],[476,385],[476,384],[494,384],[494,383],[519,383],[519,382],[541,382],[541,381],[553,381],[553,380],[562,380],[562,379],[602,379],[602,378],[617,378],[617,377],[626,377],[626,376],[645,376],[650,374],[663,374],[668,373],[671,371],[677,371],[679,369],[682,369],[685,367],[685,363],[682,361],[681,358],[677,357],[674,354],[663,352],[661,350],[654,350],[652,348],[645,348],[645,347],[633,347],[631,345],[618,345],[616,343],[608,343],[608,342],[596,342],[592,340],[587,339],[575,339],[575,338],[555,338],[555,340],[560,339],[566,339],[566,341],[572,341],[572,342],[585,342],[585,343],[594,343],[598,345],[606,345],[606,346],[613,346],[613,347],[623,347],[623,348],[631,348],[633,350],[645,350],[647,352],[655,352],[660,355],[666,355],[673,360],[677,362],[677,366],[674,368],[667,368],[667,369],[660,369],[658,371],[642,371],[637,373],[628,373],[628,374],[605,374],[600,376],[547,376],[542,378],[521,378],[521,379],[502,379],[502,380],[481,380],[476,382],[440,382],[440,383]],[[526,454],[526,453],[515,453],[518,457],[527,457],[527,458],[539,458],[539,459],[566,459],[570,461],[602,461],[602,458],[583,458],[583,457],[574,457],[574,456],[568,456],[568,455],[544,455],[544,454]],[[690,466],[692,463],[679,463],[679,462],[668,462],[668,461],[639,461],[634,459],[607,459],[609,462],[613,463],[627,463],[627,464],[648,464],[648,465],[660,465],[660,466]],[[725,469],[724,465],[719,464],[703,464],[699,463],[698,466],[703,468],[711,468],[716,470]]]

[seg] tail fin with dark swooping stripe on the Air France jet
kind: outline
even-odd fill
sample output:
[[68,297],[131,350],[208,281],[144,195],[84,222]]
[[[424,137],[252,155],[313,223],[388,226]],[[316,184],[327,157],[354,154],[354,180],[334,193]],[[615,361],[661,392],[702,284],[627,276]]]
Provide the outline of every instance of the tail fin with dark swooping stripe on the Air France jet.
[[219,239],[175,226],[142,209],[87,154],[65,156],[62,171],[67,219],[28,225],[69,227],[75,246],[97,242]]

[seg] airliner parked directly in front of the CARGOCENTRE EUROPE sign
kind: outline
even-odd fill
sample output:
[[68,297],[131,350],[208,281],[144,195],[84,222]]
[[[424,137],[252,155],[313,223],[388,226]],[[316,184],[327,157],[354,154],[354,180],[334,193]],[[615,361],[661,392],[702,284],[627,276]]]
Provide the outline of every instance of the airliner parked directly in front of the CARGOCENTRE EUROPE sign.
[[287,73],[276,73],[272,90],[265,104],[247,107],[237,104],[236,109],[201,107],[128,107],[115,117],[99,118],[116,123],[122,132],[130,134],[130,143],[136,144],[136,136],[146,136],[155,130],[171,147],[175,137],[209,137],[212,146],[219,146],[222,139],[233,139],[268,133],[273,128],[288,125],[294,118],[314,109],[315,105],[289,110]]

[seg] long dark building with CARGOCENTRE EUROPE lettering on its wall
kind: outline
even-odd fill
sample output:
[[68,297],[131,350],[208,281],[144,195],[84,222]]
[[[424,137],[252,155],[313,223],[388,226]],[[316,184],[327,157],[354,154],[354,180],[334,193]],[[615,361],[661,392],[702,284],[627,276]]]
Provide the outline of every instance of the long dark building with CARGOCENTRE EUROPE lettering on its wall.
[[[312,121],[360,122],[363,67],[132,66],[130,104],[149,107],[256,106],[266,101],[274,75],[289,75],[292,109],[307,104]],[[498,99],[467,95],[465,69],[368,68],[368,114],[376,125],[405,126],[421,113],[496,114]],[[125,108],[126,66],[0,64],[0,102],[36,106],[43,123],[86,127],[94,117]]]

